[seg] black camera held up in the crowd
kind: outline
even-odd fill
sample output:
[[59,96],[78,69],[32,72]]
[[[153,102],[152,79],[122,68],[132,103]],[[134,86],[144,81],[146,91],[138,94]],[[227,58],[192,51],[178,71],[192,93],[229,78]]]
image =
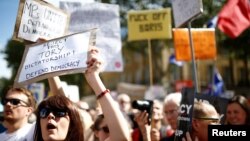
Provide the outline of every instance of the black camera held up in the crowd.
[[151,123],[151,116],[153,112],[153,104],[152,100],[134,100],[132,102],[132,107],[134,109],[138,109],[140,111],[147,111],[148,113],[148,124]]

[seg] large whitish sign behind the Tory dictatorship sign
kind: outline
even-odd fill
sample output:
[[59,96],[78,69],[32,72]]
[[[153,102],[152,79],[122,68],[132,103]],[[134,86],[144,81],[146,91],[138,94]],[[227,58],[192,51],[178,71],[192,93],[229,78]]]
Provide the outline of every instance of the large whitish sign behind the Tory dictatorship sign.
[[100,48],[105,62],[104,71],[123,71],[119,6],[97,2],[79,6],[77,3],[60,2],[60,8],[71,14],[70,32],[99,29],[96,47]]

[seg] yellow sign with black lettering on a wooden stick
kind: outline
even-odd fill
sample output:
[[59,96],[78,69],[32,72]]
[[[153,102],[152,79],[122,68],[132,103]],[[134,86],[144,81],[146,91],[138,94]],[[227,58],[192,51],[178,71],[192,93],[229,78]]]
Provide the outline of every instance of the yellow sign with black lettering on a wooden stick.
[[128,12],[128,40],[169,39],[171,9]]

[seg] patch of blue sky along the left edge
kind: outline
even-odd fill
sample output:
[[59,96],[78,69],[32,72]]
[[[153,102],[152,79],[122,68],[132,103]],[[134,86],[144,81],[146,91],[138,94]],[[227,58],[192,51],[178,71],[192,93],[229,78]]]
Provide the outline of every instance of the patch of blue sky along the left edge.
[[[5,48],[7,41],[12,37],[18,4],[19,0],[0,0],[0,50]],[[3,54],[0,54],[0,78],[9,78],[11,72],[3,58]]]

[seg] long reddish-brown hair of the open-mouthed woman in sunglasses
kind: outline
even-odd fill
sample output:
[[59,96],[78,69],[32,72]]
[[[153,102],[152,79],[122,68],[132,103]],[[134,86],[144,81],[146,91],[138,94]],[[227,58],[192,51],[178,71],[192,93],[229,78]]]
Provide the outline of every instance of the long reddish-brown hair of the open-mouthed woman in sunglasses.
[[51,108],[51,109],[61,109],[66,110],[70,117],[70,125],[68,129],[68,134],[66,136],[65,141],[83,141],[84,134],[83,134],[83,127],[81,123],[81,118],[78,112],[77,107],[75,107],[74,103],[71,102],[66,96],[64,95],[54,95],[48,97],[47,99],[43,100],[37,108],[36,116],[36,128],[34,133],[34,140],[35,141],[43,141],[42,139],[42,131],[40,125],[40,115],[39,112],[42,108]]

